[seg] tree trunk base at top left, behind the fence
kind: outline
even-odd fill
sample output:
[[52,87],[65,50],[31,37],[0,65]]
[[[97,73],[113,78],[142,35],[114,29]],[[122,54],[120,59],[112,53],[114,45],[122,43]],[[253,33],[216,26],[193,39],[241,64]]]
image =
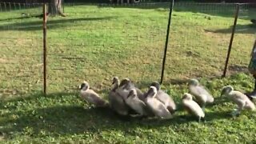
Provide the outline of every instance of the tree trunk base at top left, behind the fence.
[[62,17],[66,17],[66,15],[62,13],[62,0],[50,0],[50,4],[48,6],[48,14],[53,16],[61,15]]

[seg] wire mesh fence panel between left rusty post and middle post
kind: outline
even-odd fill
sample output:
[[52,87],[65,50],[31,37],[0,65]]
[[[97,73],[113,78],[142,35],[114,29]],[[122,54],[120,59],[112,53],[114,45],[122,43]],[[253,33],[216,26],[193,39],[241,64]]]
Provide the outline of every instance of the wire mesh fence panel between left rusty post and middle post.
[[50,83],[75,86],[86,79],[102,89],[114,76],[135,82],[160,78],[167,13],[158,18],[154,10],[73,4],[65,11],[67,18],[47,24],[49,63],[54,63]]

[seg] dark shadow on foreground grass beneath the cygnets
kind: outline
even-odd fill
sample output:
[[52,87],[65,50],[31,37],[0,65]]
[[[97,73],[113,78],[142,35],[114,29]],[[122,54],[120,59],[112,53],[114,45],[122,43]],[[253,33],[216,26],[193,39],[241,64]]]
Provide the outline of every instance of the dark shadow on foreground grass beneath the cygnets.
[[[28,98],[18,98],[7,102],[38,102],[38,97],[42,94],[35,94]],[[98,133],[102,130],[133,130],[136,127],[157,129],[161,126],[180,125],[187,122],[196,122],[196,118],[177,114],[171,120],[158,120],[149,118],[130,118],[120,117],[114,114],[109,108],[83,108],[79,105],[77,94],[50,94],[46,97],[47,102],[59,102],[52,104],[54,106],[42,106],[34,110],[21,110],[16,114],[2,114],[5,121],[0,123],[6,125],[8,128],[2,129],[1,132],[6,134],[7,137],[12,137],[12,132],[26,133],[31,136],[38,136],[44,132],[52,134],[82,134],[86,131],[91,133]],[[69,99],[69,105],[66,102]],[[71,100],[70,100],[71,99]],[[73,102],[73,104],[72,104]],[[6,108],[5,102],[2,102],[0,109],[16,109],[15,104]],[[37,105],[34,103],[34,105]],[[14,118],[14,115],[16,115]],[[229,118],[227,112],[211,112],[207,113],[206,121],[210,122],[213,119]],[[10,126],[10,127],[9,127]],[[27,129],[31,130],[27,130]]]

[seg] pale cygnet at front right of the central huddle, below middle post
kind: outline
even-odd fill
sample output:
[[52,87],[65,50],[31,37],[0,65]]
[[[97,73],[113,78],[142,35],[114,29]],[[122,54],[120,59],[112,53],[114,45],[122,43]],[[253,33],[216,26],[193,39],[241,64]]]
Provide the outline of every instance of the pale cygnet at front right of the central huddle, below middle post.
[[154,86],[150,86],[150,89],[145,94],[145,102],[146,106],[154,113],[155,116],[162,119],[170,119],[173,118],[173,115],[170,114],[170,111],[166,109],[166,106],[160,101],[158,101],[156,97],[158,91]]

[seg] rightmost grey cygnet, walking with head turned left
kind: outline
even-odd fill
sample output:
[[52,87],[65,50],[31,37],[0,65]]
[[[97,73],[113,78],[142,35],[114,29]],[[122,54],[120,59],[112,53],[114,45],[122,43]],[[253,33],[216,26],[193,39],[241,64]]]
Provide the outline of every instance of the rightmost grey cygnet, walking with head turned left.
[[232,86],[224,86],[221,96],[223,95],[226,95],[238,106],[238,109],[233,112],[233,116],[240,114],[243,109],[255,110],[254,103],[245,94],[234,90]]

